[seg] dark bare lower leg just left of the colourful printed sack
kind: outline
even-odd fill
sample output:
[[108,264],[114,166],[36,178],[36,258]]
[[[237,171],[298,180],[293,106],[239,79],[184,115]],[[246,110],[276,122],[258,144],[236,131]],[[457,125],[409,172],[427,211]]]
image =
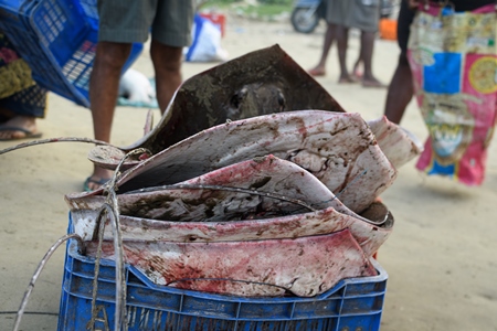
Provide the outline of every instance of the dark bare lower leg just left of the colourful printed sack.
[[387,93],[384,116],[387,116],[390,121],[400,124],[405,108],[413,95],[414,86],[411,67],[409,66],[405,53],[401,53]]

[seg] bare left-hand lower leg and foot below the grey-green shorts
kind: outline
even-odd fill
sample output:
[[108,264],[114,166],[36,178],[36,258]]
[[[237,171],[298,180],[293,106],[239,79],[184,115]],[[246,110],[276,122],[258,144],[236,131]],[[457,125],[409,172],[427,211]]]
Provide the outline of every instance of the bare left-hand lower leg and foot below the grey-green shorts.
[[[97,44],[89,81],[89,103],[96,140],[110,141],[120,73],[130,51],[131,44],[128,43],[99,42]],[[94,166],[88,189],[98,189],[99,184],[96,182],[108,179],[110,175],[110,170]]]

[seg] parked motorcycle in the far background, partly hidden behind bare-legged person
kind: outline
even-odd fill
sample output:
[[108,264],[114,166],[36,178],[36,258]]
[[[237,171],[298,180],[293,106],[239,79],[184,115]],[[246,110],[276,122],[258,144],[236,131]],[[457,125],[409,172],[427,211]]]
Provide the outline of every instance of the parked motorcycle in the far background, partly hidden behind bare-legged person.
[[[350,1],[350,0],[347,0]],[[367,0],[364,0],[367,1]],[[369,0],[371,1],[371,0]],[[380,18],[391,17],[394,1],[381,0]],[[324,0],[297,0],[292,11],[290,22],[294,30],[300,33],[313,33],[319,21],[325,19],[326,1]]]

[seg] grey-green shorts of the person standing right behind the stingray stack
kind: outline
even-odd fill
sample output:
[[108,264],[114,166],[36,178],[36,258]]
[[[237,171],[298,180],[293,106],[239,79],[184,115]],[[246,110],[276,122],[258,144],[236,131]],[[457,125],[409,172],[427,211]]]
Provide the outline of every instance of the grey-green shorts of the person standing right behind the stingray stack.
[[162,44],[191,43],[192,0],[98,0],[98,40],[144,43],[149,33]]

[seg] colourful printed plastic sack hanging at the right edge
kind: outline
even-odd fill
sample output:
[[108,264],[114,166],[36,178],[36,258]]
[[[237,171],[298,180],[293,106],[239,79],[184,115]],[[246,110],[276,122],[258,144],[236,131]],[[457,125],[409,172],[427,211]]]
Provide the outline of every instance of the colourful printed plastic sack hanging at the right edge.
[[479,185],[496,121],[495,7],[454,12],[422,4],[408,55],[430,132],[416,168]]

